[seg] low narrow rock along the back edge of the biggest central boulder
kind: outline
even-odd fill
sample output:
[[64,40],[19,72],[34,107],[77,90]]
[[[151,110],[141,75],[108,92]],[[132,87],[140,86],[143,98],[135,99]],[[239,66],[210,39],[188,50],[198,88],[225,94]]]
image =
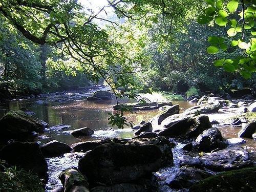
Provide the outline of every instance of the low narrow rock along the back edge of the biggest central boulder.
[[72,144],[72,148],[74,152],[87,152],[105,143],[125,144],[127,142],[128,142],[127,139],[108,138],[108,139],[97,140],[97,141],[82,141],[82,142],[74,143]]

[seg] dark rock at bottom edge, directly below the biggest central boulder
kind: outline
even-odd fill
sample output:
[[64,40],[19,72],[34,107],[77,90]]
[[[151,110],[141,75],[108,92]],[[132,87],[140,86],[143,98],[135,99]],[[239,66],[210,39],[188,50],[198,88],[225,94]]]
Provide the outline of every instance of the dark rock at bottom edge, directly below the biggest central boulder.
[[91,192],[146,192],[148,191],[143,185],[137,185],[132,183],[121,183],[112,186],[97,186],[90,190]]

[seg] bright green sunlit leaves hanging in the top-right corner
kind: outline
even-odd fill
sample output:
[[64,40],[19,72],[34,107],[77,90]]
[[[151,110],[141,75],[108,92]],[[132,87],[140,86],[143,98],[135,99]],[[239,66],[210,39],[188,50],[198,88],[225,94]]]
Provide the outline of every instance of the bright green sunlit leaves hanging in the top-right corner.
[[[227,36],[208,38],[209,54],[216,54],[220,50],[225,52],[221,59],[215,60],[214,65],[250,78],[256,72],[255,1],[212,0],[206,3],[205,13],[198,17],[198,23],[226,27],[227,33]],[[236,50],[240,55],[232,55]]]

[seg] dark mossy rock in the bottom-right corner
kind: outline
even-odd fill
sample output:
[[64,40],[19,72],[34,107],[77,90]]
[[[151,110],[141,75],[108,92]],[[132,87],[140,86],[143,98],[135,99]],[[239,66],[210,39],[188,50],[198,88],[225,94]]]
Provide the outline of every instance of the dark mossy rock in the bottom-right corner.
[[256,191],[256,167],[231,170],[208,177],[189,191]]

